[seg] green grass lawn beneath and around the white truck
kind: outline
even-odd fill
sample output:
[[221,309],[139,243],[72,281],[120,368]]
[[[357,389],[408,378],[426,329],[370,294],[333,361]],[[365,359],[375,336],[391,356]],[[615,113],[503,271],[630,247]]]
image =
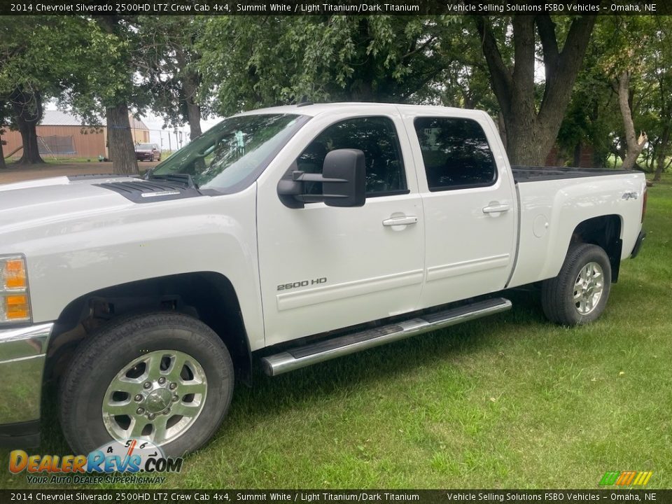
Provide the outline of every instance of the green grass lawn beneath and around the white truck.
[[[257,374],[162,488],[597,488],[606,470],[671,488],[672,184],[649,194],[643,251],[596,323],[552,325],[516,291],[505,314]],[[46,409],[31,453],[67,454]]]

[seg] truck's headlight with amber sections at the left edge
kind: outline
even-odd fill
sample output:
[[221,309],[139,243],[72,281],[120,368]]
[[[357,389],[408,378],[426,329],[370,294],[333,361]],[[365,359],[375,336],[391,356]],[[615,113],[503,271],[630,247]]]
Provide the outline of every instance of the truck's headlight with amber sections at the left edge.
[[0,256],[0,323],[29,320],[26,259],[22,255]]

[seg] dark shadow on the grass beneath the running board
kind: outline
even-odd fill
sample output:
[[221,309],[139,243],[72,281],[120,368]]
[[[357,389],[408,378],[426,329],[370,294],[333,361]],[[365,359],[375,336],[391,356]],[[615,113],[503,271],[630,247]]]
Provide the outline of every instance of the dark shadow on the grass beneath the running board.
[[[388,384],[419,367],[440,368],[447,360],[478,355],[501,342],[505,325],[545,322],[534,290],[508,290],[514,307],[505,314],[429,332],[350,356],[305,367],[279,377],[267,377],[256,367],[254,386],[239,386],[218,437],[238,426],[251,426],[268,415],[281,414],[317,400],[346,398],[360,388]],[[246,428],[246,427],[245,427]]]

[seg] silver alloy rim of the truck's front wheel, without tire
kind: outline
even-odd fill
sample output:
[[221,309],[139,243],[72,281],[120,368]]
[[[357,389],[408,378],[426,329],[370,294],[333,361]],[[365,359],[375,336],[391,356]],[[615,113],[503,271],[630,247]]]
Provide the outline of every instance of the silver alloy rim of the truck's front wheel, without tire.
[[103,422],[109,435],[142,437],[166,444],[186,433],[203,410],[207,380],[187,353],[157,350],[123,367],[104,395]]

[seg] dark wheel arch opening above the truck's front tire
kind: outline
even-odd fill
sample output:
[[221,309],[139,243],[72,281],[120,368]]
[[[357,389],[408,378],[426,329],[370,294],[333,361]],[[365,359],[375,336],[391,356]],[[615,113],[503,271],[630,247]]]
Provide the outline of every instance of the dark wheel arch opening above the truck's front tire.
[[60,374],[76,344],[118,316],[144,311],[187,314],[207,324],[230,351],[236,377],[251,384],[251,349],[237,293],[221,273],[158,276],[86,293],[61,311],[48,348],[47,377]]

